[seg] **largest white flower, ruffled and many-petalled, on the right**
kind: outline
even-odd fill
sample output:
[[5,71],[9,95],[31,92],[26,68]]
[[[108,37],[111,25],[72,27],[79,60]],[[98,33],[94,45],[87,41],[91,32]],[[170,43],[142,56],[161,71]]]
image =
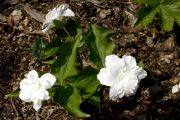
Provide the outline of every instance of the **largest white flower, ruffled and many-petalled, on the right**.
[[109,97],[116,100],[135,94],[139,81],[146,76],[146,71],[137,66],[134,57],[109,55],[105,59],[105,68],[100,70],[97,78],[102,85],[110,86]]

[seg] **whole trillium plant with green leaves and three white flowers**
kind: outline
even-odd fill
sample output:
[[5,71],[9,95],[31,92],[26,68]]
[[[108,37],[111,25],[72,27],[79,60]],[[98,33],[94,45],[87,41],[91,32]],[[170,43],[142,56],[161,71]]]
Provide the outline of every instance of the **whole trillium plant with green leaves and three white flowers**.
[[[112,100],[136,93],[146,71],[137,66],[134,57],[119,58],[112,54],[115,44],[110,40],[111,29],[92,24],[83,32],[80,24],[71,20],[74,15],[67,4],[62,4],[45,16],[42,31],[54,30],[56,34],[50,42],[37,39],[32,51],[41,62],[51,66],[51,73],[39,77],[31,70],[10,97],[33,102],[36,111],[40,110],[42,101],[51,98],[74,115],[89,117],[80,105],[88,101],[99,108],[101,85],[110,87]],[[82,54],[82,50],[87,52]]]

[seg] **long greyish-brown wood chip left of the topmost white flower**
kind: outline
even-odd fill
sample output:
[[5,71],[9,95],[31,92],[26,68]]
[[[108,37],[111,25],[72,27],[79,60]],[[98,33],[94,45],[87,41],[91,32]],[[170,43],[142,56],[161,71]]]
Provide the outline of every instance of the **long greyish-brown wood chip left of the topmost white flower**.
[[30,4],[28,4],[28,3],[25,4],[24,5],[24,10],[27,12],[27,14],[29,14],[35,20],[37,20],[39,22],[44,21],[43,15],[40,12],[38,12],[37,10],[33,9]]

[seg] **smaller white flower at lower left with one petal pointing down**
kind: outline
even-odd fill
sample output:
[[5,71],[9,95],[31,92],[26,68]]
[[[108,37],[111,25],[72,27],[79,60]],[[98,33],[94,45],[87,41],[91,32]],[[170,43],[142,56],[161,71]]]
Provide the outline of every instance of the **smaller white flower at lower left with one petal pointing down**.
[[42,100],[48,100],[49,92],[56,81],[56,78],[46,73],[40,78],[35,70],[30,71],[26,78],[20,82],[19,98],[25,102],[33,102],[33,108],[38,111],[42,105]]

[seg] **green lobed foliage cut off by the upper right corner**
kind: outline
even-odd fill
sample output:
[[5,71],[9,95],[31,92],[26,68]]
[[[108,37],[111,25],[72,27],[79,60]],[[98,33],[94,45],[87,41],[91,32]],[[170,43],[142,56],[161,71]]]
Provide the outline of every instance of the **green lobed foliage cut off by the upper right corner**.
[[[134,0],[143,2],[142,0]],[[180,26],[180,0],[149,0],[138,12],[138,20],[135,25],[147,26],[155,15],[164,31],[171,31],[176,22]]]

